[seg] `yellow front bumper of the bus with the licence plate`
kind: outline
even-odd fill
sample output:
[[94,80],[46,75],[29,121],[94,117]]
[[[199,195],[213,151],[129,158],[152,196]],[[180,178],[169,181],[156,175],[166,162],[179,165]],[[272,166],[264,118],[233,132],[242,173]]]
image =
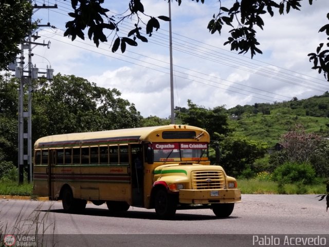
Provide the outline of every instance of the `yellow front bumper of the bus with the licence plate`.
[[241,202],[240,189],[181,189],[179,203],[209,204]]

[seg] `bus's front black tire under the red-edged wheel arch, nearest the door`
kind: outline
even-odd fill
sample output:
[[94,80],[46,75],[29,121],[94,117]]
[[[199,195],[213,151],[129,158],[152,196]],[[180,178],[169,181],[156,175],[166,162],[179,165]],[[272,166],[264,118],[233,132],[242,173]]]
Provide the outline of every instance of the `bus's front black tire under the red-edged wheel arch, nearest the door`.
[[154,196],[154,208],[155,213],[160,218],[174,217],[177,209],[174,195],[169,194],[165,189],[158,189]]

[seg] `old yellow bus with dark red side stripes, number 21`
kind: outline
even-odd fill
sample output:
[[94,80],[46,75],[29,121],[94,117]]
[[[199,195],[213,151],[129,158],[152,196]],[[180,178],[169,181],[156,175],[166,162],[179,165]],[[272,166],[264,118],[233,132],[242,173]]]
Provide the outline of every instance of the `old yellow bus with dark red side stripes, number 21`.
[[62,200],[66,211],[87,201],[111,211],[211,208],[228,217],[241,201],[236,180],[208,160],[207,131],[169,125],[42,137],[34,144],[33,193]]

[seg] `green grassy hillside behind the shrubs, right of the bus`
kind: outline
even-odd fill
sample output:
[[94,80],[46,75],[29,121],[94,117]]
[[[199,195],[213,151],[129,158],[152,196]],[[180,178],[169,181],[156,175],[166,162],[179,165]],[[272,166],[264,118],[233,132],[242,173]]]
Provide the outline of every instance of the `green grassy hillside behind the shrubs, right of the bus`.
[[[270,146],[297,124],[306,132],[329,136],[329,97],[315,96],[276,104],[237,105],[229,109],[229,124],[235,133],[262,140]],[[234,114],[234,115],[233,115]],[[233,117],[234,116],[234,117]]]

